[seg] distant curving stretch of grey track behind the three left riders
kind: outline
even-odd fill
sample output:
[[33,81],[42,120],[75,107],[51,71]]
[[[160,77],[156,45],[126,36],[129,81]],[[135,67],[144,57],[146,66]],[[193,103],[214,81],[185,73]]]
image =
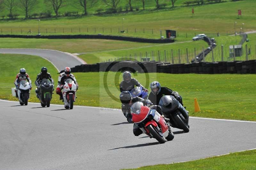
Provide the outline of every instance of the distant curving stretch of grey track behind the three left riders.
[[48,59],[51,61],[59,71],[64,70],[65,67],[75,67],[77,65],[81,65],[80,61],[78,61],[73,56],[57,51],[57,50],[44,50],[44,49],[0,49],[0,53],[6,54],[27,54],[40,56],[42,58]]

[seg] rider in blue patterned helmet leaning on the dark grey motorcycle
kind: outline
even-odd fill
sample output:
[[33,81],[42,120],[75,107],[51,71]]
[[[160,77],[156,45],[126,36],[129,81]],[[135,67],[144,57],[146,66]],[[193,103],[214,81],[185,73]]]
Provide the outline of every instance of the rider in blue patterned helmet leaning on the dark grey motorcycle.
[[177,91],[172,91],[167,87],[161,87],[158,81],[153,81],[150,84],[150,89],[151,89],[151,92],[148,96],[148,99],[152,101],[153,104],[158,105],[161,97],[163,97],[164,95],[171,95],[175,97],[183,106],[182,98],[179,95],[179,93]]

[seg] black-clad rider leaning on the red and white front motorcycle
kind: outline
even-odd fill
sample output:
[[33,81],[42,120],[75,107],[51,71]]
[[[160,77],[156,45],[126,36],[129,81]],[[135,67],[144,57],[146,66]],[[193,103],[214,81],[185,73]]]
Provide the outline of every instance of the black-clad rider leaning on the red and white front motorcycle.
[[[152,102],[148,99],[143,99],[138,96],[132,97],[132,94],[128,90],[121,92],[119,98],[122,103],[122,112],[124,113],[124,116],[127,118],[127,121],[129,123],[133,123],[132,122],[132,114],[131,114],[131,106],[135,102],[142,102],[144,106],[148,106],[148,107],[150,107],[150,109],[155,109],[159,114],[162,115],[162,117],[164,118],[164,120],[166,122],[170,121],[170,119],[164,117],[161,106],[153,105]],[[140,128],[134,124],[133,125],[133,134],[135,136],[139,136],[142,133],[143,132],[140,130]]]

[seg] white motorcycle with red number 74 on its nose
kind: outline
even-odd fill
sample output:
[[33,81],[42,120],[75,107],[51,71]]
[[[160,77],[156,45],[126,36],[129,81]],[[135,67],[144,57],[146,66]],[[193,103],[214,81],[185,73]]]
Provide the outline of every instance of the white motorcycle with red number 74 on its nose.
[[76,101],[76,83],[72,79],[67,79],[63,86],[63,101],[65,109],[73,109],[73,103]]

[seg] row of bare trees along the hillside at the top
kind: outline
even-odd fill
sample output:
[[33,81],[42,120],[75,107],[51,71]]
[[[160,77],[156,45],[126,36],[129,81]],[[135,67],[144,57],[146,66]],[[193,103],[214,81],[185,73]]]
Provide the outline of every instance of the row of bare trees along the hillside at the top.
[[[83,10],[83,14],[87,15],[87,9],[93,7],[99,0],[44,0],[44,4],[49,5],[52,7],[52,10],[54,11],[56,16],[59,16],[59,10],[60,8],[67,5],[67,3],[70,3],[73,7]],[[112,12],[117,12],[117,6],[120,3],[121,0],[102,0],[102,2],[108,6]],[[136,0],[125,0],[127,4],[127,8],[129,8],[130,11],[133,11],[132,3]],[[156,1],[156,8],[159,9],[161,7],[161,4],[159,4],[159,0]],[[177,0],[171,0],[172,7],[174,7],[174,3]],[[141,0],[143,10],[145,10],[145,4],[146,0]],[[14,11],[21,11],[24,13],[25,18],[29,18],[29,14],[34,11],[39,4],[39,0],[0,0],[0,12],[3,11],[3,9],[8,10],[9,18],[15,17]],[[162,4],[163,5],[163,4]],[[167,4],[164,4],[166,6]],[[136,9],[137,10],[137,9]],[[120,10],[119,10],[120,11]],[[46,12],[46,16],[51,15],[51,12],[49,14]]]

